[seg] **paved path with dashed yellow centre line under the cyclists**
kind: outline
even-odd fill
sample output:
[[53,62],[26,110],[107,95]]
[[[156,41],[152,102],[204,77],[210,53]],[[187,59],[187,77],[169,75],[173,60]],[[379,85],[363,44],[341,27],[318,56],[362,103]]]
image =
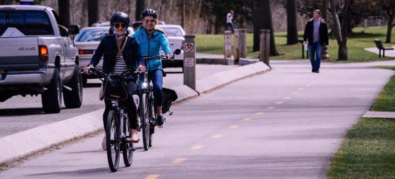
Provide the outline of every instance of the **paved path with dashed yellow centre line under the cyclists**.
[[[389,64],[394,64],[390,62]],[[176,104],[153,147],[108,169],[98,135],[0,173],[0,178],[324,178],[346,131],[394,74],[356,64],[271,62],[255,75]]]

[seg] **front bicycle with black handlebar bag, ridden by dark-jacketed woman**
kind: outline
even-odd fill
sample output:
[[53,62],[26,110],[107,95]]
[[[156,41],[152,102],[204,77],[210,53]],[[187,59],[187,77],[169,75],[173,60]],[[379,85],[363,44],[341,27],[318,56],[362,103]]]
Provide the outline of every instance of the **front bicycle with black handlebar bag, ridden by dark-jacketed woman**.
[[[123,83],[125,79],[130,78],[132,74],[136,73],[136,70],[133,70],[128,69],[121,75],[108,75],[105,74],[103,70],[91,68],[88,73],[92,73],[100,77],[99,79],[103,81],[104,84],[106,84],[106,82],[110,84],[118,83],[118,86],[122,86],[124,85]],[[123,89],[126,93],[126,89]],[[104,88],[104,91],[106,91],[106,88]],[[104,92],[104,94],[106,94],[106,92]],[[126,167],[129,167],[132,164],[134,151],[133,144],[130,143],[132,133],[129,118],[127,114],[124,113],[124,109],[126,108],[126,106],[124,106],[124,100],[127,98],[127,93],[126,98],[118,98],[115,96],[116,95],[113,95],[113,98],[107,98],[111,100],[112,107],[108,112],[107,123],[105,126],[107,131],[107,161],[112,172],[115,172],[118,169],[121,150]]]

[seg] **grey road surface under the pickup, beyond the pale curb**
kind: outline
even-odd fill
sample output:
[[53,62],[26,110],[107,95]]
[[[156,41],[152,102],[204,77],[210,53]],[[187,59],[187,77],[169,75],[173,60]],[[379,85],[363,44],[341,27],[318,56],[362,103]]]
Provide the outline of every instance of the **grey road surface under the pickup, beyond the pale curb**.
[[[238,65],[196,65],[196,79],[201,79],[237,67]],[[166,72],[181,72],[181,68],[165,69]],[[84,87],[83,104],[81,108],[62,108],[60,114],[44,114],[41,105],[41,96],[14,96],[0,103],[0,138],[21,132],[37,126],[62,121],[75,116],[83,115],[104,107],[103,101],[98,100],[100,80],[89,79],[88,87]],[[164,87],[172,88],[183,85],[182,73],[169,73],[164,78]],[[63,105],[64,106],[64,105]]]

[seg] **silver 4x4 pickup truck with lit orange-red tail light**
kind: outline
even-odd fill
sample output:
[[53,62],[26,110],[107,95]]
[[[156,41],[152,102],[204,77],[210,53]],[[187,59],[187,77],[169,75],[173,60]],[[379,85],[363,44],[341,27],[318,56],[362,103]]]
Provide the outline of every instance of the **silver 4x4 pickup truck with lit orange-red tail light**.
[[0,102],[15,95],[39,95],[45,113],[82,104],[78,50],[69,34],[78,26],[60,26],[45,6],[0,6]]

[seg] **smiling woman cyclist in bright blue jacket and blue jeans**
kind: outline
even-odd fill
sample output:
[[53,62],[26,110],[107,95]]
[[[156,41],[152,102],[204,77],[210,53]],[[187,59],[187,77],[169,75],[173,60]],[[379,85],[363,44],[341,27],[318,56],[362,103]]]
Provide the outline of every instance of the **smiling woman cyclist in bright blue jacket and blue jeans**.
[[[167,39],[165,32],[162,29],[155,27],[157,23],[157,14],[155,10],[145,9],[141,12],[141,18],[143,19],[143,26],[136,30],[133,36],[139,40],[141,46],[141,53],[148,57],[159,55],[159,51],[162,47],[168,59],[171,59],[170,43]],[[147,61],[148,77],[152,80],[153,84],[153,95],[156,111],[156,124],[159,128],[164,127],[165,118],[162,114],[163,105],[163,76],[162,62],[159,58],[150,59]],[[141,84],[139,84],[141,86]]]

